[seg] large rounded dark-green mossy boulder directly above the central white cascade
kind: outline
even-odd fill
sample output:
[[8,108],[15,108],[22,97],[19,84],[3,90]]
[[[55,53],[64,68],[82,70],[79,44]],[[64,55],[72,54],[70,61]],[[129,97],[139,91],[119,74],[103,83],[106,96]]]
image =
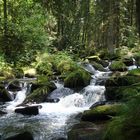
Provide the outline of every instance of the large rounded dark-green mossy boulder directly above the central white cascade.
[[64,86],[69,88],[82,88],[90,83],[90,79],[91,75],[86,70],[78,68],[67,75],[64,79]]

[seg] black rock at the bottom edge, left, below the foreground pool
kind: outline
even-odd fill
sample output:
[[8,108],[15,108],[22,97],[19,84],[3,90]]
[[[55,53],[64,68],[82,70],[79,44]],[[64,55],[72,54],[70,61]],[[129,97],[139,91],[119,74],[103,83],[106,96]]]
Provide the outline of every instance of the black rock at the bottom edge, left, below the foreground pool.
[[23,132],[21,134],[6,138],[5,140],[34,140],[34,138],[31,133]]

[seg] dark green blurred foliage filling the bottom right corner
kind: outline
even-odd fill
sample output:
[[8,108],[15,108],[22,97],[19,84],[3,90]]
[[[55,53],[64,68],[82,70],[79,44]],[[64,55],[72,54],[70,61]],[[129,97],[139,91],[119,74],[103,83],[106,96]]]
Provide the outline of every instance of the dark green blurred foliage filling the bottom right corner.
[[121,108],[120,116],[113,119],[105,134],[105,140],[140,139],[140,96]]

